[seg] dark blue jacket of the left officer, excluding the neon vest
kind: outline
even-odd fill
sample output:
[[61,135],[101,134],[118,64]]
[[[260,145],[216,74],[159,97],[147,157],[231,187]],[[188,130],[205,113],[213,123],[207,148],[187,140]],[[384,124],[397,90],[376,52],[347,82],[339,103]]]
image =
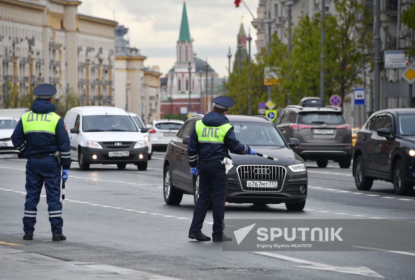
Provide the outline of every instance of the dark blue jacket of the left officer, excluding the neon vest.
[[[33,101],[32,111],[34,113],[52,113],[55,110],[55,105],[47,100],[35,99]],[[61,157],[63,169],[68,169],[71,166],[71,157],[68,157],[71,152],[70,140],[62,118],[59,119],[58,124],[56,125],[55,135],[44,132],[32,132],[25,135],[22,118],[20,118],[20,121],[17,123],[15,131],[12,134],[12,142],[15,148],[20,147],[19,150],[27,159],[61,151],[65,153],[65,157]]]

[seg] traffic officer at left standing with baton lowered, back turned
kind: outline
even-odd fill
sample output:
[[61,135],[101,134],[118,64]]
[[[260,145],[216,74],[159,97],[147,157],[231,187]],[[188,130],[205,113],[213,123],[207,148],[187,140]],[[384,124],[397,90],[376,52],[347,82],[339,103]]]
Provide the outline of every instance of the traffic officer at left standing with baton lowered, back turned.
[[12,134],[13,145],[27,158],[23,239],[33,240],[36,207],[44,183],[52,240],[66,240],[62,234],[62,204],[59,199],[61,178],[65,181],[68,179],[71,165],[68,130],[62,118],[55,113],[55,105],[51,103],[56,88],[51,84],[40,84],[33,90],[33,94],[37,95],[37,99],[33,101],[32,111],[20,118]]

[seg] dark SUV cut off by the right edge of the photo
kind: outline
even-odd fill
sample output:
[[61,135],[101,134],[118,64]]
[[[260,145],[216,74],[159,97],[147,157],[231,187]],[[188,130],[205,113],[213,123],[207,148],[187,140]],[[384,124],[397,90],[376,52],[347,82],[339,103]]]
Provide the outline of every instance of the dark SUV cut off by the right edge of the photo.
[[353,176],[359,190],[374,180],[393,183],[395,193],[409,195],[415,185],[415,109],[373,113],[357,133]]

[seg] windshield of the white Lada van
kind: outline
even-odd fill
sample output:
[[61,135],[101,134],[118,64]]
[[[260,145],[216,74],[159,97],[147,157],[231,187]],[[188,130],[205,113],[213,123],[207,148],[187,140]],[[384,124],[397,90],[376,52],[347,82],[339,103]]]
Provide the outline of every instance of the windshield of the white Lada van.
[[84,116],[82,121],[84,132],[99,131],[138,131],[130,116]]

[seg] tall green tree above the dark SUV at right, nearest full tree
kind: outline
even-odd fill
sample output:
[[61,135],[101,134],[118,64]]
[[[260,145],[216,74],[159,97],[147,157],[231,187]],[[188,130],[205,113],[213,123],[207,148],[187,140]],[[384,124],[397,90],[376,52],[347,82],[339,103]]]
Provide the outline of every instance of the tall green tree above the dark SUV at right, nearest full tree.
[[359,74],[370,62],[368,50],[373,47],[372,18],[365,3],[334,0],[334,6],[335,15],[328,14],[324,22],[326,84],[332,86],[326,90],[326,100],[332,94],[344,99],[355,84],[361,84]]

